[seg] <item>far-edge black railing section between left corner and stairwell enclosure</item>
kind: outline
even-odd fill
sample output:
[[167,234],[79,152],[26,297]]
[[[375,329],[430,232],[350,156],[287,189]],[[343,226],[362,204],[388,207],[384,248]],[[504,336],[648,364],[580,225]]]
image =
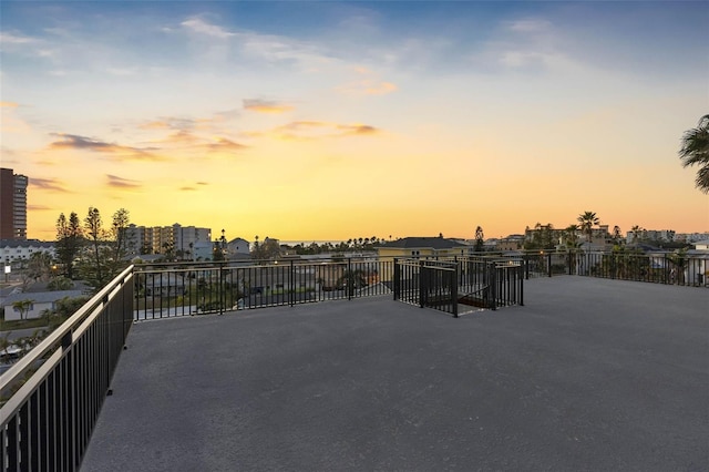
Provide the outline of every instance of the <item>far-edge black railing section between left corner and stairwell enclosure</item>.
[[135,319],[294,306],[391,294],[393,259],[141,265]]

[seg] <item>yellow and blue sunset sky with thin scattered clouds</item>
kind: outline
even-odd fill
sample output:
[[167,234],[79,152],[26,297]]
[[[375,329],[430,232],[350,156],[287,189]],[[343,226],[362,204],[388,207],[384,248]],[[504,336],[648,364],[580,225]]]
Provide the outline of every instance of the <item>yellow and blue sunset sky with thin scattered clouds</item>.
[[0,3],[1,165],[60,213],[253,240],[709,230],[709,2]]

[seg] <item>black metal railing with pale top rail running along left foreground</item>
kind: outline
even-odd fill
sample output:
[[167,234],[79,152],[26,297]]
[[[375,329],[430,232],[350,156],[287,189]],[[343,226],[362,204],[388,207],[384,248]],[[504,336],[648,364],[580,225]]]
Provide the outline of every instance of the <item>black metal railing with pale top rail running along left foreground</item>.
[[0,471],[74,471],[131,328],[129,267],[0,376]]

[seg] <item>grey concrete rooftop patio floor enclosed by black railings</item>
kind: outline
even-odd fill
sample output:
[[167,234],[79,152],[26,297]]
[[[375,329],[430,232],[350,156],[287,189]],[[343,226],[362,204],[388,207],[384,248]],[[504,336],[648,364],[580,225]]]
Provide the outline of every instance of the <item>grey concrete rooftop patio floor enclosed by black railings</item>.
[[92,471],[706,471],[709,290],[563,276],[133,326]]

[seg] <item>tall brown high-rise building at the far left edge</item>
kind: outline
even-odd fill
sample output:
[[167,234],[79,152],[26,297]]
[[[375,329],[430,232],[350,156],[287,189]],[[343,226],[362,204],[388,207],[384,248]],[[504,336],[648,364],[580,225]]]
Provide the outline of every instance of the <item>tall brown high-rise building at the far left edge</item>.
[[27,239],[27,175],[0,168],[0,239]]

